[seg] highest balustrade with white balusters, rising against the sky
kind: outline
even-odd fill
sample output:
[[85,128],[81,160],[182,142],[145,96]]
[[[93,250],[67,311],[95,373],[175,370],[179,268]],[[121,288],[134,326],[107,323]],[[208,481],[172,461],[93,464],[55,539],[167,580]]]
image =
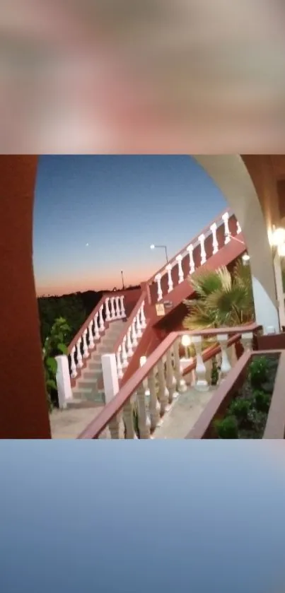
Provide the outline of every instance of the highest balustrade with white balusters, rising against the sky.
[[[156,283],[153,303],[162,300],[163,296],[170,293],[187,276],[193,274],[199,266],[206,264],[212,255],[219,252],[223,245],[227,245],[232,237],[240,233],[240,225],[229,211],[207,225],[189,245],[183,247],[180,253],[170,259],[166,267],[161,268],[155,276],[150,278],[149,283],[153,281]],[[243,241],[240,240],[240,243],[243,244]]]

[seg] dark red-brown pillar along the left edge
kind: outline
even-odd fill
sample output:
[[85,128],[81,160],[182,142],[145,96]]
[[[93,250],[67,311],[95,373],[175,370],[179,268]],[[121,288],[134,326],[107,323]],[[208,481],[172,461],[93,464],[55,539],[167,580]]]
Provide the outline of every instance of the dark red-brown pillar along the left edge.
[[0,156],[0,438],[48,439],[33,276],[36,156]]

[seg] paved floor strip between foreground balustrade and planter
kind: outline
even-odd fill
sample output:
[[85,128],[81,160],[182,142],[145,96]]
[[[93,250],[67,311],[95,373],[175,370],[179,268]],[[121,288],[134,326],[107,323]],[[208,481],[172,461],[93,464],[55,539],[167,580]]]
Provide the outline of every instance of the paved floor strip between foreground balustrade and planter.
[[163,423],[156,428],[155,439],[184,439],[207,406],[216,387],[208,392],[199,392],[194,387],[187,389],[173,402],[170,410],[165,413]]

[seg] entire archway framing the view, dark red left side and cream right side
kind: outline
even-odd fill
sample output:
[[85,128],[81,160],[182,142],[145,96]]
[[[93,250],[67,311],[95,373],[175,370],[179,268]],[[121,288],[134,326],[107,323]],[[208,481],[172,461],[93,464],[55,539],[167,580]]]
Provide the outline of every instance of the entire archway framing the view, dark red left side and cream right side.
[[[254,276],[257,320],[278,329],[267,235],[274,222],[272,212],[277,217],[272,207],[276,189],[268,163],[263,157],[250,160],[240,155],[195,158],[220,187],[243,229]],[[0,438],[50,438],[33,276],[36,172],[37,156],[0,157]]]

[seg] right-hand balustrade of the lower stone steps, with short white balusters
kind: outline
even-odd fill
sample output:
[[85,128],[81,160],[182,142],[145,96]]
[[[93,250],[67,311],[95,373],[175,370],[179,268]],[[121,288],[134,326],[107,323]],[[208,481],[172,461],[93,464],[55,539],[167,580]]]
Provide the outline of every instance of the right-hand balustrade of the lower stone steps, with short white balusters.
[[117,373],[119,379],[124,376],[124,371],[129,365],[134,355],[136,347],[139,345],[144,329],[146,329],[146,316],[144,308],[146,304],[146,290],[141,293],[136,306],[132,310],[131,315],[124,324],[122,334],[120,334],[114,346],[114,352],[117,360]]

